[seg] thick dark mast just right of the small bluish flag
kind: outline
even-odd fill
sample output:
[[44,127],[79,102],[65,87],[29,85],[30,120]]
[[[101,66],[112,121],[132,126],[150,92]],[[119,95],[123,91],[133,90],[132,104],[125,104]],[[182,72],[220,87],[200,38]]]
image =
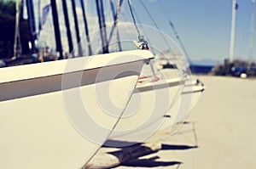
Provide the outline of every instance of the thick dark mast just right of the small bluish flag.
[[52,11],[54,29],[55,29],[56,50],[60,53],[59,59],[63,59],[62,44],[61,44],[61,31],[60,31],[56,1],[55,0],[50,0],[50,4],[51,4],[51,11]]

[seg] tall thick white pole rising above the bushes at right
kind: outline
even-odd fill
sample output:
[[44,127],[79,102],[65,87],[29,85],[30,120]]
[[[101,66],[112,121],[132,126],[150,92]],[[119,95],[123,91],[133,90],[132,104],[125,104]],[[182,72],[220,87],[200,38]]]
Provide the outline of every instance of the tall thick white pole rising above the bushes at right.
[[232,21],[231,21],[231,33],[230,33],[230,62],[232,62],[234,59],[236,9],[237,9],[236,0],[232,0]]

